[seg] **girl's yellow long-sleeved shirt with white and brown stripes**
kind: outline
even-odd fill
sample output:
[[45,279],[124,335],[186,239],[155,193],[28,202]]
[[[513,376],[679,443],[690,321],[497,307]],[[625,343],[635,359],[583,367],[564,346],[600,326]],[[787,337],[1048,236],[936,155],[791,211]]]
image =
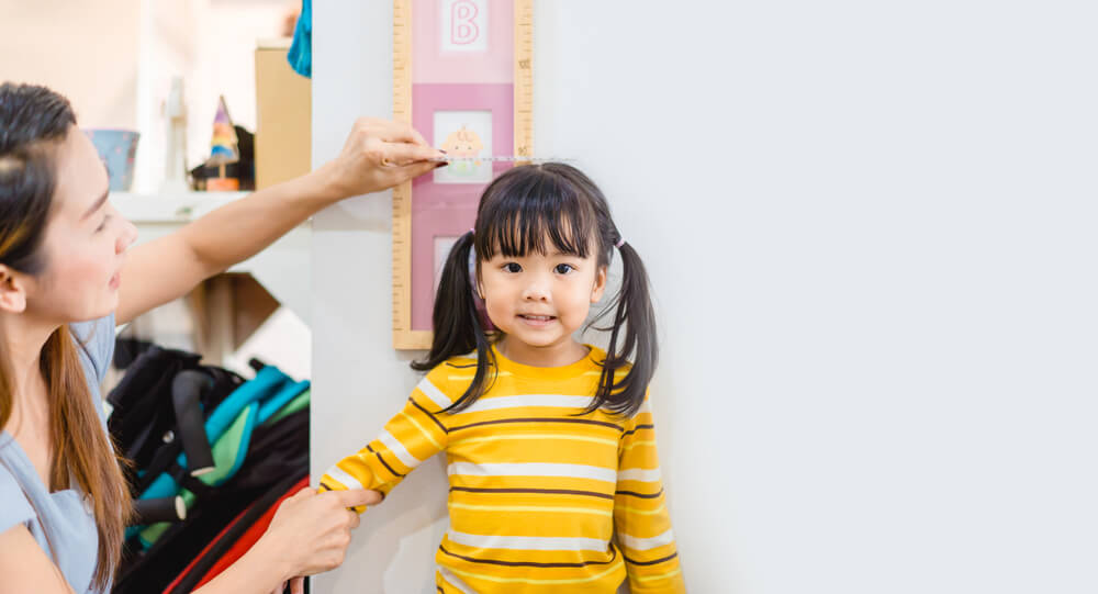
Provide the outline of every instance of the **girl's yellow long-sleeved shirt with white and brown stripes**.
[[634,594],[685,592],[648,401],[631,418],[578,414],[598,384],[606,354],[596,347],[557,368],[493,352],[495,379],[473,405],[440,412],[477,367],[450,359],[377,439],[328,469],[322,487],[388,494],[445,451],[450,529],[435,556],[439,592],[613,593],[626,578]]

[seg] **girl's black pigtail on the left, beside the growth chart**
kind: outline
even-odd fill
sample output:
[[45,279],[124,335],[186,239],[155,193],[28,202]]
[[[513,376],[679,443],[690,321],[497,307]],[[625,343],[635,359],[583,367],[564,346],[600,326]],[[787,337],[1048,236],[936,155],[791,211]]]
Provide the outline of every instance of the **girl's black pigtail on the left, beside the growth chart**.
[[412,369],[430,371],[447,359],[477,351],[477,373],[466,393],[442,412],[458,413],[477,401],[488,390],[489,367],[494,363],[492,349],[481,326],[480,313],[473,298],[474,267],[470,266],[473,254],[473,232],[458,238],[450,249],[442,267],[442,279],[435,295],[435,325],[430,352],[422,361],[413,361]]

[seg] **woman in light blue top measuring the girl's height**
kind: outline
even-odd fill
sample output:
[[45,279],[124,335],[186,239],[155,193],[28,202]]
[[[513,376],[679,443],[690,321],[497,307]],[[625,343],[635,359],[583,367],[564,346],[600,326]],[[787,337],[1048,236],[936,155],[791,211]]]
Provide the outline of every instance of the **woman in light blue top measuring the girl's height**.
[[[355,124],[340,155],[127,250],[134,226],[68,101],[0,85],[0,593],[110,590],[130,511],[99,384],[114,325],[190,291],[315,212],[438,166],[407,126]],[[369,491],[287,500],[203,594],[270,592],[343,561]]]

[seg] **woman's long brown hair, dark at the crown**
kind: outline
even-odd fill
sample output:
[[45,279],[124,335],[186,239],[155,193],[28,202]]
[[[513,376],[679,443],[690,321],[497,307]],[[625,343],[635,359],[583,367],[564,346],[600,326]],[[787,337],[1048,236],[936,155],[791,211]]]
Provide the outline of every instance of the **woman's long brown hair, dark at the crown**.
[[[55,210],[56,153],[68,134],[80,132],[64,97],[44,87],[0,85],[0,264],[12,270],[35,276],[49,266],[42,243]],[[0,428],[14,406],[5,344],[0,339]],[[66,487],[71,477],[89,496],[99,531],[92,586],[105,591],[122,553],[131,500],[76,349],[68,326],[61,325],[40,358],[49,397],[49,482]]]

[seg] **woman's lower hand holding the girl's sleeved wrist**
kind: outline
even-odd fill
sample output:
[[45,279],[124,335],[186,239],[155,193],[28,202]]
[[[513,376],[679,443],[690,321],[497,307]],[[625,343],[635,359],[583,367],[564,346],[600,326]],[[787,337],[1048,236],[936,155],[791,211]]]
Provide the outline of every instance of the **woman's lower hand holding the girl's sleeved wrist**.
[[358,514],[348,508],[380,501],[381,494],[376,491],[318,494],[306,486],[282,502],[255,548],[269,560],[271,571],[281,572],[283,580],[292,578],[291,585],[302,589],[300,576],[323,573],[343,563],[350,531],[359,525]]

